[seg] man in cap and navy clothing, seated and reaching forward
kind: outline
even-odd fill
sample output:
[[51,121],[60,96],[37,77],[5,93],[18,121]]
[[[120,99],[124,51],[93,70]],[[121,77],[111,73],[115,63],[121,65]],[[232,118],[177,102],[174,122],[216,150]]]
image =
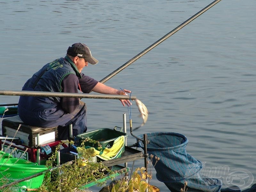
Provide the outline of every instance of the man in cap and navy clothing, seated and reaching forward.
[[[56,59],[36,72],[23,86],[24,91],[89,93],[124,95],[129,90],[117,90],[81,73],[88,63],[98,63],[89,47],[75,43],[68,47],[65,58]],[[121,100],[123,106],[129,100]],[[68,126],[73,125],[73,135],[86,132],[86,105],[79,98],[20,96],[18,113],[20,119],[31,126],[49,128],[59,126],[59,139],[68,138]]]

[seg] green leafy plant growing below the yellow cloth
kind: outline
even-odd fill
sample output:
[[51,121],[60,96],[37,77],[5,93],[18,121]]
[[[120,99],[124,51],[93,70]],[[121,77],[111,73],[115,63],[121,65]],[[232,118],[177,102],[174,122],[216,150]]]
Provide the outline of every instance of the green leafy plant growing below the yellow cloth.
[[[94,142],[94,141],[93,141]],[[65,141],[65,143],[74,144],[73,141]],[[56,164],[57,152],[60,149],[60,143],[52,156],[47,160],[46,165],[54,167]],[[82,142],[81,147],[84,145]],[[86,166],[81,167],[84,159],[90,158],[89,154],[83,152],[79,154],[83,158],[77,158],[72,164],[62,164],[60,168],[51,172],[51,177],[46,176],[39,191],[42,192],[59,192],[59,191],[75,191],[90,181],[104,177],[106,172],[111,172],[108,167],[102,163],[87,162]],[[102,185],[103,183],[100,183]]]

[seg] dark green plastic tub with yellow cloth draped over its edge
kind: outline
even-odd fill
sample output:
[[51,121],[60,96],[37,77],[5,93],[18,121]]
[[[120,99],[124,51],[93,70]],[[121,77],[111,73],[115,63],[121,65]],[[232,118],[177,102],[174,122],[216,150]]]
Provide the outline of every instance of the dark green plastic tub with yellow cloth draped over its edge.
[[[111,148],[113,146],[115,139],[117,139],[122,135],[124,135],[124,137],[127,137],[127,134],[122,132],[123,128],[121,128],[120,131],[116,131],[116,128],[118,127],[115,127],[114,129],[108,129],[108,128],[97,129],[91,132],[79,134],[76,136],[76,138],[79,140],[84,140],[89,138],[92,140],[99,141],[102,147]],[[98,147],[98,144],[94,144],[90,142],[85,142],[84,145],[90,146],[90,147]]]

